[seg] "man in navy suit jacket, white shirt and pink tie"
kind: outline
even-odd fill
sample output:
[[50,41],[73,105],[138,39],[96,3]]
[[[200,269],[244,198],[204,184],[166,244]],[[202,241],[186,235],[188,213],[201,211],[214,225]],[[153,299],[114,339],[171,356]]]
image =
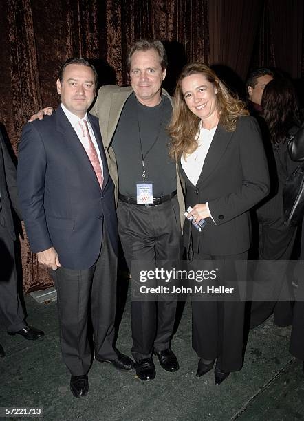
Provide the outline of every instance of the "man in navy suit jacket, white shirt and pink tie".
[[89,312],[95,359],[133,369],[133,361],[113,347],[118,228],[98,119],[87,114],[96,85],[87,61],[66,61],[57,80],[61,106],[25,125],[19,148],[25,228],[39,262],[53,270],[61,349],[76,397],[88,391]]

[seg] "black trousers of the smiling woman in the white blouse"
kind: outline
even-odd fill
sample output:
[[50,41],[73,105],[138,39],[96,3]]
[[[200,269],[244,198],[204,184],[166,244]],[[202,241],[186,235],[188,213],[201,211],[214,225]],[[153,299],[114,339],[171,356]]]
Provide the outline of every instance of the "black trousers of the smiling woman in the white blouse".
[[[245,297],[246,263],[241,272],[235,261],[246,261],[247,252],[230,256],[197,255],[193,260],[216,260],[221,277],[219,285],[237,288]],[[195,263],[195,262],[193,262]],[[202,269],[202,268],[201,268]],[[237,285],[236,280],[240,280]],[[241,285],[242,283],[242,285]],[[216,285],[217,286],[217,285]],[[225,296],[224,296],[225,299]],[[243,330],[245,301],[192,301],[192,345],[200,358],[215,360],[221,371],[239,371],[243,365]]]

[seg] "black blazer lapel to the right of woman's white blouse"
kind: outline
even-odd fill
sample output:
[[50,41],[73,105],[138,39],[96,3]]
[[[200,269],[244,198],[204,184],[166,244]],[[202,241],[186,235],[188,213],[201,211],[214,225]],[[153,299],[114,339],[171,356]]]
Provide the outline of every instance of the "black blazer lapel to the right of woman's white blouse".
[[232,134],[233,131],[226,131],[220,124],[217,125],[215,135],[213,136],[213,140],[204,161],[201,175],[199,175],[199,180],[197,180],[197,185],[204,182],[211,173],[213,173],[230,143]]

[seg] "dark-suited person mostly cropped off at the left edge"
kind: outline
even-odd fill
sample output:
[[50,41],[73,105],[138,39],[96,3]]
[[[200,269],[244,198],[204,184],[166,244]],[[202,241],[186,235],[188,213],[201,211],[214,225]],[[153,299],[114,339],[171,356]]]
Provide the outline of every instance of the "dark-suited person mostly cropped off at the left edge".
[[[8,334],[20,334],[25,339],[34,340],[42,337],[44,333],[28,326],[25,322],[25,314],[17,292],[14,250],[16,233],[12,208],[21,219],[17,200],[16,168],[0,130],[0,316]],[[4,350],[0,346],[0,356],[4,355]]]

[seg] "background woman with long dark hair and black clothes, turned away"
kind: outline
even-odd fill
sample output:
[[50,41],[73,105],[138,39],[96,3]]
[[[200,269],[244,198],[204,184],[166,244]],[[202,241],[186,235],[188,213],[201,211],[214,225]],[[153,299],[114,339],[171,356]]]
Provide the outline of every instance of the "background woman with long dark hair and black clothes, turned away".
[[[250,327],[263,323],[274,312],[274,323],[292,323],[292,283],[287,280],[287,261],[292,254],[296,227],[284,223],[283,186],[294,171],[287,140],[298,129],[298,105],[294,87],[287,78],[274,78],[263,91],[263,118],[269,139],[264,139],[270,169],[270,195],[257,208],[259,263],[256,279],[259,296],[253,301]],[[274,262],[276,261],[276,262]]]

